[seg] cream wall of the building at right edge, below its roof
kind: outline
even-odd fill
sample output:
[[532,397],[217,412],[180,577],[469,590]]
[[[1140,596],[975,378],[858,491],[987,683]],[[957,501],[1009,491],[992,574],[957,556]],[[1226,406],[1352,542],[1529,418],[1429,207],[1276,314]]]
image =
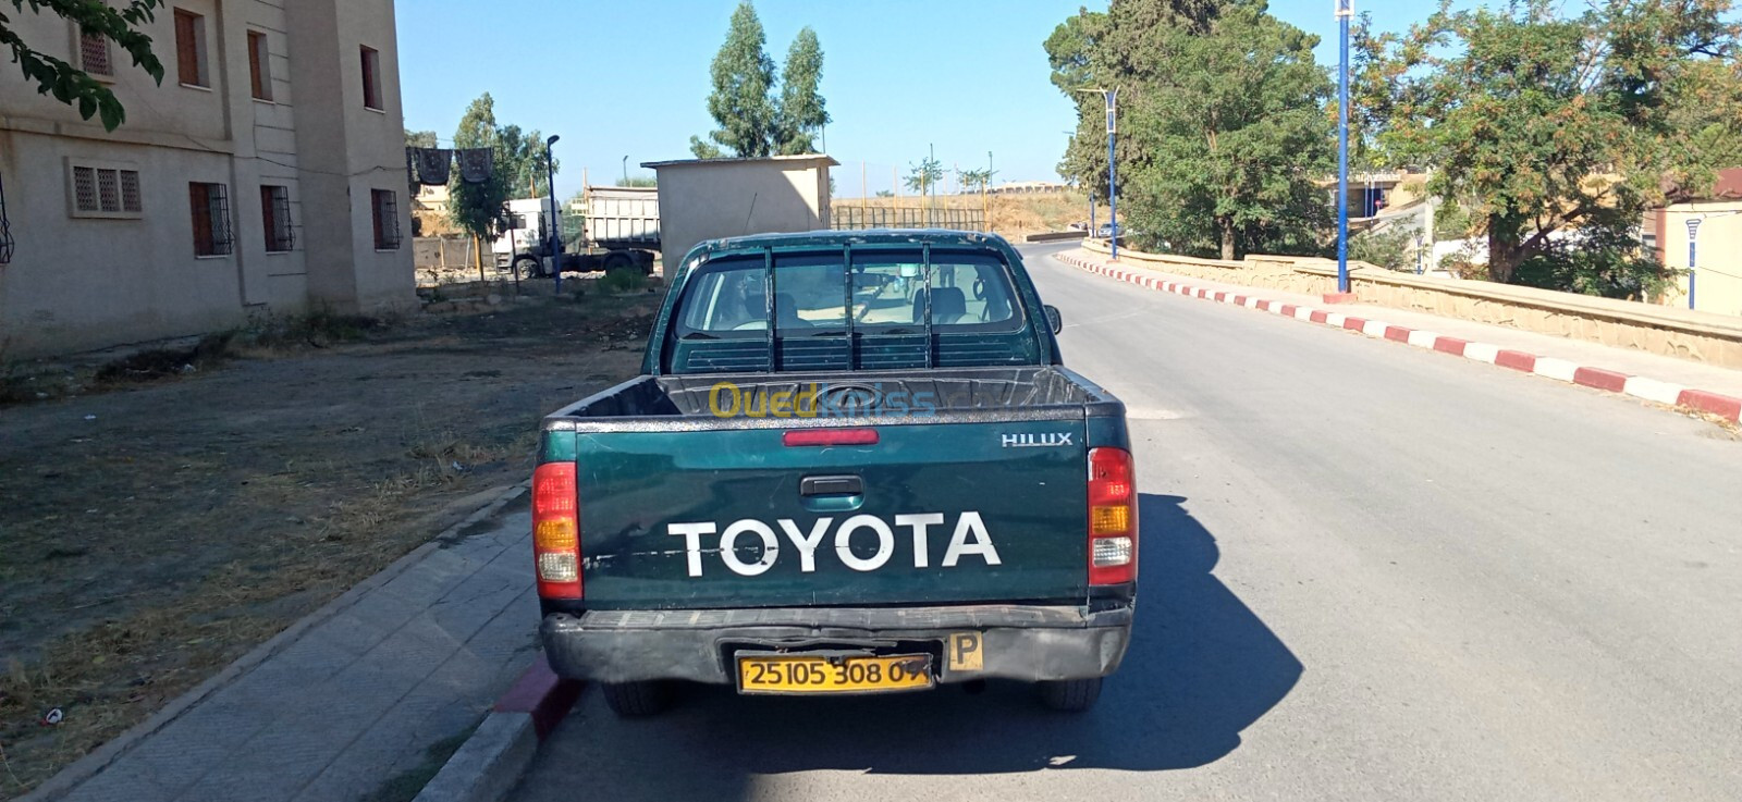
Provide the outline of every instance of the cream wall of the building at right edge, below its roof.
[[[1657,216],[1657,244],[1664,264],[1688,270],[1688,219],[1700,217],[1693,273],[1693,303],[1698,311],[1742,315],[1742,200],[1676,204]],[[1688,308],[1688,277],[1665,299]]]

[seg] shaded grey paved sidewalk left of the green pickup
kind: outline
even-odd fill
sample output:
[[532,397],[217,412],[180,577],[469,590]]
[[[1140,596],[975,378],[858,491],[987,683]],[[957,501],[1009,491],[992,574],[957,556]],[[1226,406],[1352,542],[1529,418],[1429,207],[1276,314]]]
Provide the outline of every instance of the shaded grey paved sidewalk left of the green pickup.
[[502,511],[519,498],[503,494],[26,800],[348,802],[420,767],[537,656],[531,517],[524,501]]

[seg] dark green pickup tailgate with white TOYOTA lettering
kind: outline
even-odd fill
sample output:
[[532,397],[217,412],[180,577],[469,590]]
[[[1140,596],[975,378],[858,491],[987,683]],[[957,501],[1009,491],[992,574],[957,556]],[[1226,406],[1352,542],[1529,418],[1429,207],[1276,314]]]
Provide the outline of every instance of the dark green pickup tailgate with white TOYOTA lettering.
[[1080,600],[1084,419],[996,418],[573,433],[587,605]]

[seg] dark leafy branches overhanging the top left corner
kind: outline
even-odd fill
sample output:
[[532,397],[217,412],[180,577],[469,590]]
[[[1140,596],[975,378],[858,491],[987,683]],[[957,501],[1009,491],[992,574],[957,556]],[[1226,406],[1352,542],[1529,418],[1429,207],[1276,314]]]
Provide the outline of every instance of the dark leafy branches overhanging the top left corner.
[[[113,7],[89,0],[10,0],[17,14],[30,5],[31,14],[47,9],[73,24],[87,37],[101,37],[120,45],[138,66],[164,82],[164,64],[152,52],[152,37],[139,33],[139,28],[155,19],[155,10],[164,0],[125,0],[125,5]],[[98,117],[103,129],[115,130],[127,122],[127,110],[115,99],[115,92],[89,73],[66,61],[37,50],[17,31],[12,19],[0,14],[0,43],[12,50],[12,61],[26,80],[37,82],[38,94],[52,94],[54,99],[78,110],[78,117],[89,120]]]

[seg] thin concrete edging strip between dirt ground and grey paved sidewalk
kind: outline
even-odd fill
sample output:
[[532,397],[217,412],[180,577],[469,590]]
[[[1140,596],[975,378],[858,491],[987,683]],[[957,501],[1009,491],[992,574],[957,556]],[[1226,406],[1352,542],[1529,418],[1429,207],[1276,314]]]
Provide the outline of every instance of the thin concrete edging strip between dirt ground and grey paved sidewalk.
[[122,757],[127,752],[131,752],[132,748],[139,746],[146,738],[157,734],[157,731],[164,729],[169,722],[179,718],[183,713],[186,713],[190,708],[193,708],[195,705],[199,705],[200,701],[204,701],[207,696],[211,696],[218,689],[221,689],[221,687],[225,687],[225,685],[228,685],[228,684],[232,684],[235,680],[239,680],[242,675],[246,675],[247,672],[251,672],[254,666],[260,666],[268,658],[282,652],[291,644],[294,644],[296,640],[300,640],[308,630],[312,630],[312,628],[326,623],[327,619],[333,619],[334,616],[345,612],[347,609],[354,607],[369,591],[373,591],[373,590],[387,585],[388,581],[392,581],[399,574],[404,574],[406,569],[409,569],[411,565],[416,565],[418,560],[429,557],[430,551],[441,548],[442,541],[453,539],[455,536],[458,536],[462,531],[465,531],[472,524],[477,524],[477,522],[481,522],[481,520],[495,515],[498,510],[502,510],[503,506],[507,506],[510,501],[514,501],[516,498],[519,498],[521,494],[524,494],[526,489],[528,489],[528,485],[530,485],[530,482],[521,482],[521,484],[517,484],[514,487],[509,487],[509,489],[502,491],[495,499],[491,499],[486,505],[479,506],[477,510],[474,510],[470,515],[467,515],[458,524],[444,529],[441,534],[437,534],[436,538],[430,538],[422,546],[413,548],[409,553],[406,553],[404,557],[394,560],[390,565],[387,565],[385,569],[381,569],[375,576],[371,576],[371,578],[368,578],[368,579],[354,585],[345,593],[340,593],[338,598],[333,598],[331,602],[321,605],[321,609],[317,609],[317,611],[303,616],[300,621],[293,623],[284,632],[273,635],[265,644],[256,645],[247,654],[237,658],[233,663],[230,663],[228,666],[225,666],[221,672],[218,672],[216,675],[209,677],[206,682],[200,682],[199,685],[195,685],[193,691],[188,691],[188,692],[178,696],[176,699],[172,699],[169,705],[164,705],[164,708],[159,710],[157,713],[152,713],[150,718],[146,718],[146,720],[143,720],[143,722],[129,727],[120,736],[115,736],[113,739],[110,739],[103,746],[98,746],[96,750],[92,750],[89,755],[85,755],[85,757],[75,760],[71,765],[61,769],[57,774],[54,774],[52,778],[49,778],[45,783],[38,785],[35,790],[31,790],[24,797],[21,797],[19,802],[51,802],[51,800],[64,797],[68,792],[71,792],[73,788],[77,788],[80,783],[94,778],[98,772],[101,772],[110,764],[113,764],[118,757]]

